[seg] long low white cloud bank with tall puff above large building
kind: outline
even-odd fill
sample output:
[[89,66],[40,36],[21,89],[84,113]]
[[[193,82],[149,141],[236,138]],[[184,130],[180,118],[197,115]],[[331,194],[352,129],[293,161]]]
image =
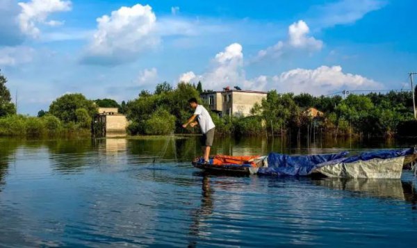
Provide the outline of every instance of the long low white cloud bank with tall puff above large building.
[[316,95],[342,89],[380,90],[383,88],[380,83],[370,78],[344,73],[339,65],[332,67],[323,65],[316,69],[291,69],[275,76],[261,75],[247,79],[243,69],[243,47],[238,43],[231,44],[218,53],[213,59],[212,69],[208,72],[201,75],[186,72],[181,74],[179,81],[192,83],[202,81],[204,85],[209,85],[211,90],[220,90],[227,85],[240,85],[245,90],[276,89],[279,92],[294,92],[295,94],[308,92]]

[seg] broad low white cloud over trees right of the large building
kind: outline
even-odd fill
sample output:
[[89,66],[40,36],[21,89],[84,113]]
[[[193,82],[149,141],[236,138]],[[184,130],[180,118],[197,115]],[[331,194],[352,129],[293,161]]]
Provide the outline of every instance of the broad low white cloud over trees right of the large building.
[[320,95],[341,89],[379,90],[382,85],[361,75],[345,74],[341,66],[323,65],[317,69],[292,69],[279,76],[272,76],[268,88],[277,89],[279,92],[294,92],[295,94],[306,92]]

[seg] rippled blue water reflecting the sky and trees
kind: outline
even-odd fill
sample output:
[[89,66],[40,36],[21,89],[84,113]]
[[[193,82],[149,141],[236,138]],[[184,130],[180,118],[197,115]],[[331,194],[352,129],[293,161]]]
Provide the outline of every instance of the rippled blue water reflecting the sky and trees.
[[[318,154],[412,140],[216,138],[213,153]],[[0,247],[415,246],[417,180],[205,174],[196,138],[0,140]]]

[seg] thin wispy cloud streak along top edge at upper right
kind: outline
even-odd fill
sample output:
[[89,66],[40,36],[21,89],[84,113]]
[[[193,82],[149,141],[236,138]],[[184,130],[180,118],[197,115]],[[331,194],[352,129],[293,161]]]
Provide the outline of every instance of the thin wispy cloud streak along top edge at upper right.
[[312,16],[309,22],[320,28],[352,24],[362,19],[367,13],[386,6],[381,0],[341,0],[322,6],[313,6],[307,15]]

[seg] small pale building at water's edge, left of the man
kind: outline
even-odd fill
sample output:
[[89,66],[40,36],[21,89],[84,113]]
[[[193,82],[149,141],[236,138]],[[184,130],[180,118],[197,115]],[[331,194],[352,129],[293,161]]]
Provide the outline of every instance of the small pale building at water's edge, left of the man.
[[125,136],[128,122],[125,115],[118,113],[117,108],[97,108],[92,123],[92,134],[95,136]]

